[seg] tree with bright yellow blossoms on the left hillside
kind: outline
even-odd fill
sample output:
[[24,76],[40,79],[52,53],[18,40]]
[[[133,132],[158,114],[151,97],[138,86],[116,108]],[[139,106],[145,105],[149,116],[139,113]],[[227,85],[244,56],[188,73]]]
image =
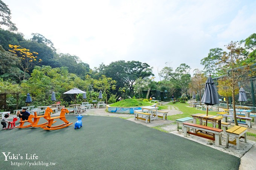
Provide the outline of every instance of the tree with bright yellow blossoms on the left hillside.
[[20,59],[19,65],[24,71],[23,80],[25,79],[26,72],[29,71],[29,69],[33,68],[37,63],[40,63],[42,60],[37,59],[38,53],[37,52],[29,52],[29,49],[23,48],[20,45],[11,45],[9,44],[9,47],[11,48],[12,53],[15,54]]

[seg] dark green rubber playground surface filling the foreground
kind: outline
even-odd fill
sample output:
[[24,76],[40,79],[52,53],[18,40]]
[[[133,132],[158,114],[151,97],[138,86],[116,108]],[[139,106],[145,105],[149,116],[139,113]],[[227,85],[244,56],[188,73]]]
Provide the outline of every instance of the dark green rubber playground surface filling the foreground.
[[75,115],[66,118],[73,124],[55,131],[0,130],[1,169],[239,168],[236,156],[125,119],[84,116],[81,129],[74,129]]

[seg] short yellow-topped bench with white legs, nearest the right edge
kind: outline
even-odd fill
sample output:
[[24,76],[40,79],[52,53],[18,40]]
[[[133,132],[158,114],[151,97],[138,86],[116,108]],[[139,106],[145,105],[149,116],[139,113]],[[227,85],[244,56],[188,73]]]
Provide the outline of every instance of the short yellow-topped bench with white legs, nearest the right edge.
[[[226,146],[229,146],[229,143],[236,145],[236,149],[239,149],[239,139],[240,138],[244,138],[245,143],[247,143],[246,140],[246,132],[247,132],[247,128],[245,127],[241,127],[241,126],[233,126],[230,129],[226,130],[227,133],[227,140],[226,140]],[[235,136],[235,140],[230,141],[229,140],[229,135]],[[242,136],[244,135],[244,136]]]

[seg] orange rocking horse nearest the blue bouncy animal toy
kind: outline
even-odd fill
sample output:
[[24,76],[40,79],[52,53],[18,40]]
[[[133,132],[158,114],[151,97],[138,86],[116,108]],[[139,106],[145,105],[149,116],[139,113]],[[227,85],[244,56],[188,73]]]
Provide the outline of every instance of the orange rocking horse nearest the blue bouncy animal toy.
[[[73,124],[72,122],[69,123],[66,119],[66,116],[65,114],[66,113],[69,113],[69,110],[67,110],[66,108],[62,108],[61,109],[61,114],[59,116],[56,116],[56,117],[50,117],[50,114],[49,114],[49,118],[47,118],[48,120],[48,125],[47,126],[42,126],[41,128],[43,128],[44,130],[57,130],[57,129],[62,129],[62,128],[66,128],[67,126]],[[58,126],[52,126],[52,123],[53,123],[53,120],[54,119],[60,119],[62,120],[64,123],[61,124],[61,125],[58,125]]]

